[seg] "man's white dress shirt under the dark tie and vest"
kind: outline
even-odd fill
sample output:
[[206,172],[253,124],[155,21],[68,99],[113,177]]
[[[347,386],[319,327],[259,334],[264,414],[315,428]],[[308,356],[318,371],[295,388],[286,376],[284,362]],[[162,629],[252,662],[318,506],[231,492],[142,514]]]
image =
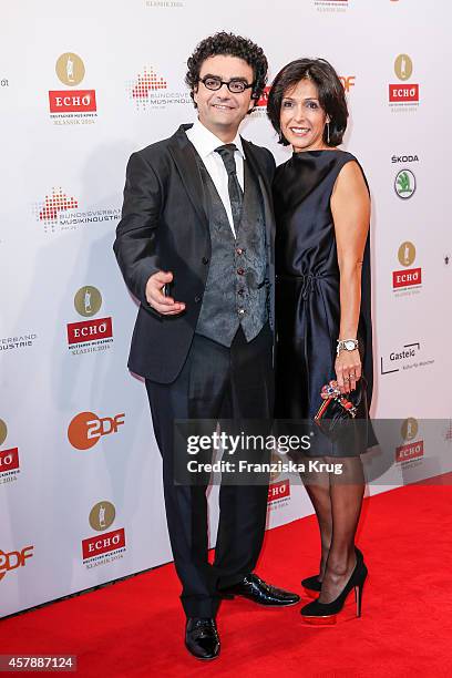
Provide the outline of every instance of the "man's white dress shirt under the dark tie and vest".
[[[215,148],[218,148],[218,146],[224,146],[225,143],[220,138],[215,136],[213,132],[207,130],[207,127],[205,127],[203,123],[199,122],[199,120],[196,120],[193,127],[186,131],[186,135],[198,152],[201,160],[205,164],[206,170],[215,184],[215,188],[217,189],[218,195],[222,198],[222,203],[225,206],[227,218],[229,219],[230,229],[235,238],[236,233],[234,228],[233,209],[230,207],[229,192],[227,188],[227,172],[222,156],[219,155],[219,153],[215,152]],[[230,143],[237,146],[234,153],[234,158],[237,167],[238,183],[242,186],[242,191],[244,191],[245,154],[242,145],[242,138],[238,132],[235,140]]]

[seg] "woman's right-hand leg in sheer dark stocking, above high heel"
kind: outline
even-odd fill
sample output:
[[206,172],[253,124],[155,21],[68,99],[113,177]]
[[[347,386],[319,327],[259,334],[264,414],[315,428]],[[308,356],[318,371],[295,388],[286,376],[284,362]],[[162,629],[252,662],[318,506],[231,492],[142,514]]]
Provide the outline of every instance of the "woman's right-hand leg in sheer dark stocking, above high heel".
[[325,460],[341,463],[342,474],[330,474],[332,534],[320,603],[331,603],[341,593],[356,565],[355,535],[364,494],[360,456]]

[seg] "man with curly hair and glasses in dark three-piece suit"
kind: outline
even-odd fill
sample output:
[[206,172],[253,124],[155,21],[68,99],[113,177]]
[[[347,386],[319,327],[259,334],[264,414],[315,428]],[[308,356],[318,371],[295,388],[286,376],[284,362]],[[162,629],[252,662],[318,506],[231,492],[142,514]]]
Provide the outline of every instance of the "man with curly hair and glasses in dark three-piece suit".
[[187,61],[198,120],[134,153],[114,251],[141,306],[129,367],[143,376],[163,455],[170,538],[185,644],[219,653],[222,597],[294,605],[253,573],[266,485],[222,485],[215,562],[207,561],[206,486],[174,483],[175,419],[273,415],[273,155],[238,134],[267,78],[267,60],[232,33],[203,40]]

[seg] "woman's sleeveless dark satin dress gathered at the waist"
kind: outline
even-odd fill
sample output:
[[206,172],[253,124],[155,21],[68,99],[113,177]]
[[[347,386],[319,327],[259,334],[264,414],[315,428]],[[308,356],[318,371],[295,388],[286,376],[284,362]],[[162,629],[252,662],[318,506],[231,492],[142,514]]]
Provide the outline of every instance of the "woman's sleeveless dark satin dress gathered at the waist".
[[[304,151],[294,153],[276,171],[278,419],[312,420],[322,403],[321,388],[336,379],[340,301],[330,198],[339,172],[351,161],[358,162],[343,151]],[[368,236],[358,327],[368,407],[373,384],[369,242]],[[370,438],[369,444],[358,453],[374,444],[373,433]],[[333,445],[325,451],[329,455],[342,455],[342,452]]]

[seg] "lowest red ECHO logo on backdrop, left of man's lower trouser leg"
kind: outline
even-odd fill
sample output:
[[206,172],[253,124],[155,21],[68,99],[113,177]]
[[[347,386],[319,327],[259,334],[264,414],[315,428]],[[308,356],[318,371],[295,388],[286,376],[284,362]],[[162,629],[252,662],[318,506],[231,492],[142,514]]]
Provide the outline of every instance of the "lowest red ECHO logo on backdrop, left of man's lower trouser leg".
[[105,565],[123,557],[125,552],[125,530],[105,532],[116,517],[114,504],[107,501],[97,502],[90,511],[89,523],[95,532],[102,535],[90,536],[82,541],[82,557],[86,568]]

